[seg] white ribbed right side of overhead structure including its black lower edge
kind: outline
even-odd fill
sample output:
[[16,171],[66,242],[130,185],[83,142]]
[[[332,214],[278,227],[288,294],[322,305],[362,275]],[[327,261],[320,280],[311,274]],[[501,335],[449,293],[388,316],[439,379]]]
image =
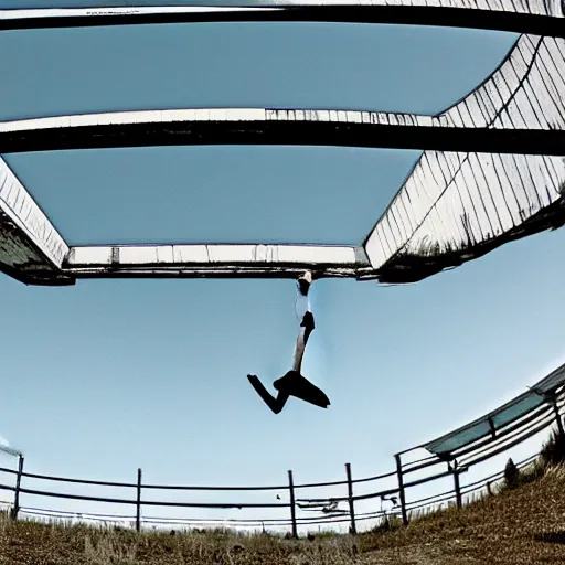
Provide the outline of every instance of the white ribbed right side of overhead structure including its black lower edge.
[[[565,42],[522,35],[475,96],[463,103],[469,114],[484,116],[489,132],[499,127],[563,132]],[[471,110],[471,104],[482,111]],[[455,108],[452,117],[465,120],[461,103]],[[425,151],[365,241],[376,271],[369,276],[419,280],[509,241],[561,226],[564,154],[564,145],[555,156]]]

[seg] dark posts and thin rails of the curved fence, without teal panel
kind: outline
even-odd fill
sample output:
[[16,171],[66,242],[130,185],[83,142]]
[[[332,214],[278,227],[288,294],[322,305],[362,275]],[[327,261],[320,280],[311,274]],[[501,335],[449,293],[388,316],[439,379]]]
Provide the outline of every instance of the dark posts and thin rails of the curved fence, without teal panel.
[[[555,397],[554,397],[555,398]],[[423,511],[424,509],[437,508],[439,504],[455,503],[458,508],[463,505],[463,498],[469,499],[480,491],[491,491],[491,484],[503,477],[503,471],[490,475],[480,480],[476,480],[468,484],[461,484],[461,476],[463,476],[471,467],[478,466],[497,455],[508,451],[512,447],[525,441],[526,439],[535,436],[540,431],[547,429],[552,424],[557,423],[557,426],[563,430],[561,422],[561,411],[565,405],[563,392],[556,396],[553,403],[547,403],[541,407],[532,411],[520,423],[514,423],[505,429],[498,433],[495,437],[481,439],[476,441],[472,446],[461,449],[457,457],[438,457],[428,456],[414,461],[403,462],[402,456],[411,450],[396,454],[396,469],[391,472],[382,473],[374,477],[365,477],[361,479],[353,479],[351,466],[345,465],[345,479],[340,481],[328,481],[317,483],[300,483],[295,484],[292,471],[288,471],[288,482],[277,486],[259,486],[259,487],[214,487],[214,486],[179,486],[179,484],[152,484],[142,482],[142,471],[138,469],[136,482],[110,482],[97,481],[86,479],[72,479],[65,477],[54,477],[47,475],[29,473],[23,470],[24,458],[19,456],[18,469],[0,468],[0,473],[3,477],[11,476],[14,484],[6,484],[3,481],[0,483],[0,490],[13,492],[13,502],[4,502],[10,507],[11,518],[18,519],[18,515],[24,514],[30,516],[43,516],[55,519],[79,519],[90,520],[95,522],[111,522],[111,523],[129,523],[140,531],[142,524],[157,525],[199,525],[199,524],[216,524],[223,526],[243,526],[256,527],[290,527],[290,535],[298,536],[298,526],[321,525],[321,524],[338,524],[349,523],[350,532],[355,534],[358,522],[366,520],[382,519],[384,516],[397,515],[402,516],[403,523],[406,525],[409,521],[411,513]],[[414,448],[417,449],[417,448]],[[518,467],[523,467],[532,462],[535,456],[518,463]],[[438,467],[446,466],[445,469]],[[420,476],[416,477],[419,473]],[[422,476],[424,473],[424,476]],[[396,477],[397,483],[388,489],[375,489],[370,492],[355,493],[355,488],[360,484],[376,483],[385,479]],[[414,478],[413,478],[414,477]],[[454,488],[438,494],[427,495],[425,498],[407,502],[406,491],[415,487],[419,487],[431,481],[437,481],[445,478],[452,478]],[[58,483],[73,483],[90,487],[109,487],[109,488],[126,488],[135,491],[131,498],[106,498],[85,494],[73,494],[68,492],[58,492],[45,489],[31,489],[25,486],[26,480],[39,480],[45,482]],[[342,497],[330,497],[319,499],[301,499],[297,494],[305,489],[319,489],[328,487],[347,487],[347,494]],[[143,498],[143,494],[149,491],[233,491],[233,492],[259,492],[259,491],[286,491],[288,493],[288,501],[279,502],[179,502],[179,501],[156,501]],[[128,504],[135,509],[135,514],[105,514],[105,513],[78,513],[64,510],[36,508],[36,507],[21,507],[20,499],[22,495],[34,495],[51,499],[71,499],[89,502],[99,502],[107,504]],[[277,497],[279,498],[279,497]],[[381,509],[373,512],[355,513],[355,503],[359,501],[380,499],[381,501],[391,501],[393,507],[387,510]],[[273,499],[271,499],[273,500]],[[339,509],[340,502],[347,502],[348,510]],[[142,516],[143,508],[183,508],[183,509],[285,509],[289,513],[288,519],[237,519],[237,520],[200,520],[190,518],[158,518],[158,516]],[[321,512],[322,515],[310,518],[298,518],[297,508],[301,510],[312,510]]]

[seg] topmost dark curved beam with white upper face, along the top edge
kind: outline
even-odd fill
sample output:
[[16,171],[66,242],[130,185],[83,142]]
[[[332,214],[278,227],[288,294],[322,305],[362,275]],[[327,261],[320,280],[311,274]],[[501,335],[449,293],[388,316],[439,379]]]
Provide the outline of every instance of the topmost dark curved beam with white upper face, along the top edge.
[[341,22],[478,28],[564,36],[561,0],[276,0],[248,6],[0,10],[0,30],[195,22]]

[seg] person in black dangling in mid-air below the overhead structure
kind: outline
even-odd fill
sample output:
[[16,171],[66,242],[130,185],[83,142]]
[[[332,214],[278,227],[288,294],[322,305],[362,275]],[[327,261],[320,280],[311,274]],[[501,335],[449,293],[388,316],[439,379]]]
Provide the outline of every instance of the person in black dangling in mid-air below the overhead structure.
[[274,397],[265,386],[263,386],[257,375],[247,375],[249,383],[257,394],[275,414],[280,413],[290,396],[296,396],[321,408],[327,408],[330,405],[328,396],[300,373],[306,344],[315,329],[313,315],[310,310],[310,302],[308,301],[308,291],[310,290],[311,284],[312,274],[310,271],[305,273],[305,275],[298,278],[298,292],[307,299],[307,308],[302,316],[302,321],[300,322],[292,370],[273,383],[273,386],[278,391],[277,397]]

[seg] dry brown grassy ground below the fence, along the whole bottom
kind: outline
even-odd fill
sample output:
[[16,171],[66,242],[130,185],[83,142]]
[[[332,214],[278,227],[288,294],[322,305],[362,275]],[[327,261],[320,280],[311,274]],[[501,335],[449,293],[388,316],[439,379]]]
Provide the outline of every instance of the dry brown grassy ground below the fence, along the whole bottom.
[[565,563],[565,467],[388,532],[285,540],[145,532],[0,518],[1,565],[451,565]]

